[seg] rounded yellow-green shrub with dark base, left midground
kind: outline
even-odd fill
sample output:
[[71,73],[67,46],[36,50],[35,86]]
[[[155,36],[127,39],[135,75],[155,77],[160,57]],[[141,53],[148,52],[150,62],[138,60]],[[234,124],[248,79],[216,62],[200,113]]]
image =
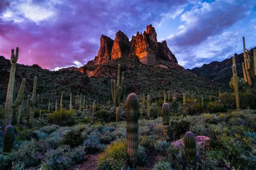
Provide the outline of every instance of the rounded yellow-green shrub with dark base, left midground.
[[48,121],[59,126],[71,126],[75,125],[75,116],[73,111],[60,110],[59,112],[50,113]]

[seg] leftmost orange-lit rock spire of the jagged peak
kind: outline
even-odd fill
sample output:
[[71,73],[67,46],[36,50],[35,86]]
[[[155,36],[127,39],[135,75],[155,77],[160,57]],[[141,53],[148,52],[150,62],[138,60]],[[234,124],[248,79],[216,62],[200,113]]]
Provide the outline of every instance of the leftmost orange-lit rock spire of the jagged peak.
[[111,51],[113,39],[102,35],[100,37],[100,46],[98,55],[95,57],[93,64],[103,64],[111,60]]

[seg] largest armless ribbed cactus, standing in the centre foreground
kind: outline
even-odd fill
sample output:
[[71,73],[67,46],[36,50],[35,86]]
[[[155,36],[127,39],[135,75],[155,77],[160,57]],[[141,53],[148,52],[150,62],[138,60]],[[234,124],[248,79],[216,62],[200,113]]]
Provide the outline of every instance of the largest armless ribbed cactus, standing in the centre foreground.
[[126,138],[127,154],[129,155],[130,164],[134,164],[135,155],[138,152],[138,112],[139,100],[135,93],[129,94],[126,99]]

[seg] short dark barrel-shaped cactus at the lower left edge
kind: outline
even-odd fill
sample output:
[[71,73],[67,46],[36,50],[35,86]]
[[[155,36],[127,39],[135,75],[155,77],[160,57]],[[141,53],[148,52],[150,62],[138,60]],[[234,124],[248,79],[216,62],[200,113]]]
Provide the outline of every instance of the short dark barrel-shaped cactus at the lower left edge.
[[14,126],[8,125],[4,130],[4,148],[3,152],[10,152],[14,145]]

